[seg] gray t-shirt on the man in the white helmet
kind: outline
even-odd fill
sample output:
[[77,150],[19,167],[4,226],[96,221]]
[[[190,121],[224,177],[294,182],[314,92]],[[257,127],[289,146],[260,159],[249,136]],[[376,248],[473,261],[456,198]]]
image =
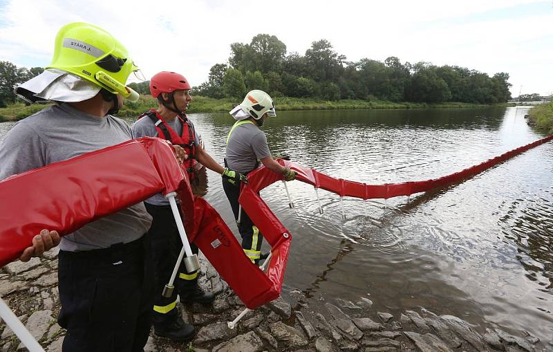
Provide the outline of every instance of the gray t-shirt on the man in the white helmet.
[[245,123],[232,131],[227,143],[227,165],[229,169],[245,173],[252,171],[261,160],[270,156],[265,133],[255,124]]

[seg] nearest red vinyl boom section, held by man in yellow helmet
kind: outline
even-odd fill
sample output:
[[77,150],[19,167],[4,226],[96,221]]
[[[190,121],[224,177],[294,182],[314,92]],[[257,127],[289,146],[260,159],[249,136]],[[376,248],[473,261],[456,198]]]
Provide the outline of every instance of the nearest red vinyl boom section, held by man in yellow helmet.
[[[152,148],[176,160],[169,145]],[[6,178],[0,181],[0,267],[42,229],[63,236],[164,190],[151,156],[136,141]]]

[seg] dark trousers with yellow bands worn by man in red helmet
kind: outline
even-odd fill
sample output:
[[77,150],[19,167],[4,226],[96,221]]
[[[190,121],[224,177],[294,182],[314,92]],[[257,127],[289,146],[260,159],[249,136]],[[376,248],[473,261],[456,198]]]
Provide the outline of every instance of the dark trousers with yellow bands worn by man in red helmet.
[[[144,203],[146,210],[152,217],[151,227],[148,233],[151,238],[154,268],[154,287],[156,290],[153,306],[153,324],[166,324],[176,319],[177,294],[185,292],[187,288],[198,282],[198,272],[187,272],[185,264],[181,261],[178,275],[175,279],[175,290],[169,298],[163,297],[163,288],[169,283],[173,269],[182,250],[182,240],[178,234],[178,228],[171,211],[171,205],[152,205]],[[198,254],[198,247],[190,243],[194,254]],[[182,294],[181,294],[182,297]]]

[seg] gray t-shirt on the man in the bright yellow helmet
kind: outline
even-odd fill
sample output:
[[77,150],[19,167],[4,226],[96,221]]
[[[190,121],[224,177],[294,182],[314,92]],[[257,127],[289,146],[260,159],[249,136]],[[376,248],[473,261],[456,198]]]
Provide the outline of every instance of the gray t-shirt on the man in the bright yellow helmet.
[[[97,118],[68,104],[51,106],[19,121],[3,140],[0,180],[131,138],[130,127],[111,115]],[[142,237],[150,223],[151,216],[141,202],[84,225],[63,237],[59,247],[79,251],[128,243]]]

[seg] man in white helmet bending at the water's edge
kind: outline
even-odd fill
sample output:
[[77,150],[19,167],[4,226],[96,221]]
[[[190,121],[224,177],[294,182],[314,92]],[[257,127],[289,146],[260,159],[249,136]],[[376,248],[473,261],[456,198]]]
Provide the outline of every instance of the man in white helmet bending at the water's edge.
[[[267,118],[277,116],[271,97],[264,91],[250,91],[243,102],[230,111],[230,114],[237,121],[227,136],[225,166],[247,176],[259,166],[261,161],[263,166],[283,175],[285,180],[294,180],[296,177],[294,171],[273,160],[265,133],[260,129]],[[223,179],[223,189],[234,212],[234,219],[242,237],[242,248],[247,257],[258,264],[265,257],[261,254],[263,237],[250,216],[247,216],[243,210],[238,221],[240,183],[230,183],[227,179]]]

